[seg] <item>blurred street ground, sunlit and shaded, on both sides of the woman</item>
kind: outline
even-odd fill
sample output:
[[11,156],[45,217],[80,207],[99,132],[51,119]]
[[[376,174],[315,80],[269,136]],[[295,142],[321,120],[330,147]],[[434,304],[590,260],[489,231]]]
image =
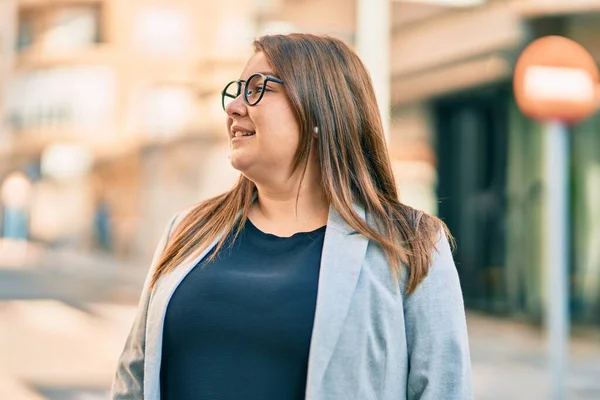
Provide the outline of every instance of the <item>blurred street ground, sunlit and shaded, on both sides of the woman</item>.
[[[43,264],[0,269],[0,399],[106,398],[143,270],[66,252],[29,253],[43,255]],[[477,399],[549,398],[539,329],[473,312],[468,325]],[[570,350],[567,398],[600,398],[598,332],[578,331]]]

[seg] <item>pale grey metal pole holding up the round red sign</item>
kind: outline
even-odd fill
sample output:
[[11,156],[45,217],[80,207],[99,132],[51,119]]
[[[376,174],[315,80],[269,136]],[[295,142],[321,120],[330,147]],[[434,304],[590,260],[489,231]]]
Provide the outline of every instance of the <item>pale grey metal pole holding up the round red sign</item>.
[[552,399],[566,398],[569,341],[569,144],[567,127],[546,125],[546,324]]

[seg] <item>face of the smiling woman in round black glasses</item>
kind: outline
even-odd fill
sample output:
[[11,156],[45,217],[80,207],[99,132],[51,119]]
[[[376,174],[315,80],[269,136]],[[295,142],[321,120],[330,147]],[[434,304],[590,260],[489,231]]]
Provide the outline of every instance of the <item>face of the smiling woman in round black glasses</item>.
[[[250,58],[240,79],[247,80],[256,73],[279,78],[262,52]],[[249,179],[260,180],[281,173],[290,176],[292,172],[300,126],[284,84],[267,82],[265,93],[255,106],[245,103],[243,90],[226,106],[231,165]]]

